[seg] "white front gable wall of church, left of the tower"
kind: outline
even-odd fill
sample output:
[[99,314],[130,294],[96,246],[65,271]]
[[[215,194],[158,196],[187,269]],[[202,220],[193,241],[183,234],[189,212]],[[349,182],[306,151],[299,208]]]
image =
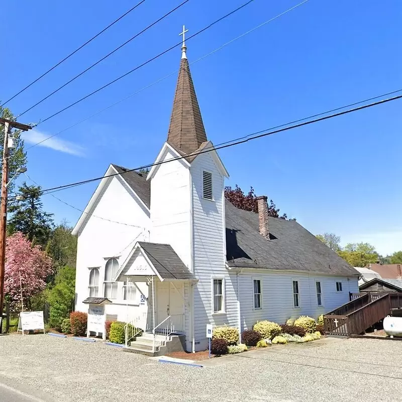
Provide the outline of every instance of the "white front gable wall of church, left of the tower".
[[[99,219],[102,217],[104,219]],[[112,222],[115,221],[115,222]],[[116,222],[122,222],[121,225]],[[135,225],[135,226],[130,226]],[[99,197],[91,216],[78,235],[75,292],[77,311],[86,312],[87,305],[82,301],[88,296],[89,267],[99,267],[98,296],[103,296],[105,264],[108,257],[118,257],[119,266],[125,261],[134,244],[133,239],[148,241],[150,219],[139,204],[138,199],[126,188],[120,177],[110,179],[103,194]],[[148,291],[140,284],[143,291]],[[145,286],[145,287],[144,287]],[[139,292],[137,292],[139,298]],[[123,282],[118,282],[117,299],[106,307],[106,312],[126,321]],[[129,315],[137,314],[139,299],[130,302]]]

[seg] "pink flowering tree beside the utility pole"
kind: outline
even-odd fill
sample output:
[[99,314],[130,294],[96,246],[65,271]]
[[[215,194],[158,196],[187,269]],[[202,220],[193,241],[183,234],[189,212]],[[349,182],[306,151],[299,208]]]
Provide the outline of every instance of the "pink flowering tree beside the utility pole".
[[7,238],[5,293],[13,309],[21,306],[20,273],[24,310],[31,306],[31,297],[46,287],[46,277],[53,271],[52,260],[20,232]]

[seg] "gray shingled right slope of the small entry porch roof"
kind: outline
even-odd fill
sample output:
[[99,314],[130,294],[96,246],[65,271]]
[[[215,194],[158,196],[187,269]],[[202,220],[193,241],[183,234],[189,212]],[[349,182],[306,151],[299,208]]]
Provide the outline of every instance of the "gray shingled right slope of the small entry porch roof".
[[138,242],[163,279],[194,279],[170,244]]

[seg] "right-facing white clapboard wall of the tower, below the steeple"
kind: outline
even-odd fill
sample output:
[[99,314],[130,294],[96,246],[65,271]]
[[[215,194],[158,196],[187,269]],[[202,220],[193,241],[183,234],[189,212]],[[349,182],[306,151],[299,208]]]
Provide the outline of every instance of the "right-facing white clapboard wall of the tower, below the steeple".
[[[213,200],[204,197],[203,172],[212,173]],[[237,297],[233,275],[225,268],[224,177],[209,153],[198,155],[191,163],[193,205],[194,340],[195,350],[207,347],[206,325],[233,325],[237,317]],[[225,278],[224,314],[212,314],[213,276]],[[235,280],[236,276],[234,276]]]

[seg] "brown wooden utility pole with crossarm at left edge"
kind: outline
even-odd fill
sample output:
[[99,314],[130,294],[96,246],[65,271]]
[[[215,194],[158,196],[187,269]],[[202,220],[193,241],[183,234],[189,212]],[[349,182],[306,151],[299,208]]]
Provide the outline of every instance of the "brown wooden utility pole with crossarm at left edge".
[[[3,331],[4,316],[4,274],[6,265],[6,234],[7,234],[7,186],[9,176],[9,131],[11,128],[17,128],[22,131],[28,131],[32,127],[21,124],[13,120],[0,118],[0,124],[4,124],[4,147],[3,147],[3,171],[2,171],[2,192],[0,204],[0,333]],[[11,141],[13,139],[10,138]],[[14,148],[10,144],[10,148]],[[14,178],[14,177],[13,177]],[[12,178],[12,179],[13,179]],[[11,181],[11,180],[10,180]]]

